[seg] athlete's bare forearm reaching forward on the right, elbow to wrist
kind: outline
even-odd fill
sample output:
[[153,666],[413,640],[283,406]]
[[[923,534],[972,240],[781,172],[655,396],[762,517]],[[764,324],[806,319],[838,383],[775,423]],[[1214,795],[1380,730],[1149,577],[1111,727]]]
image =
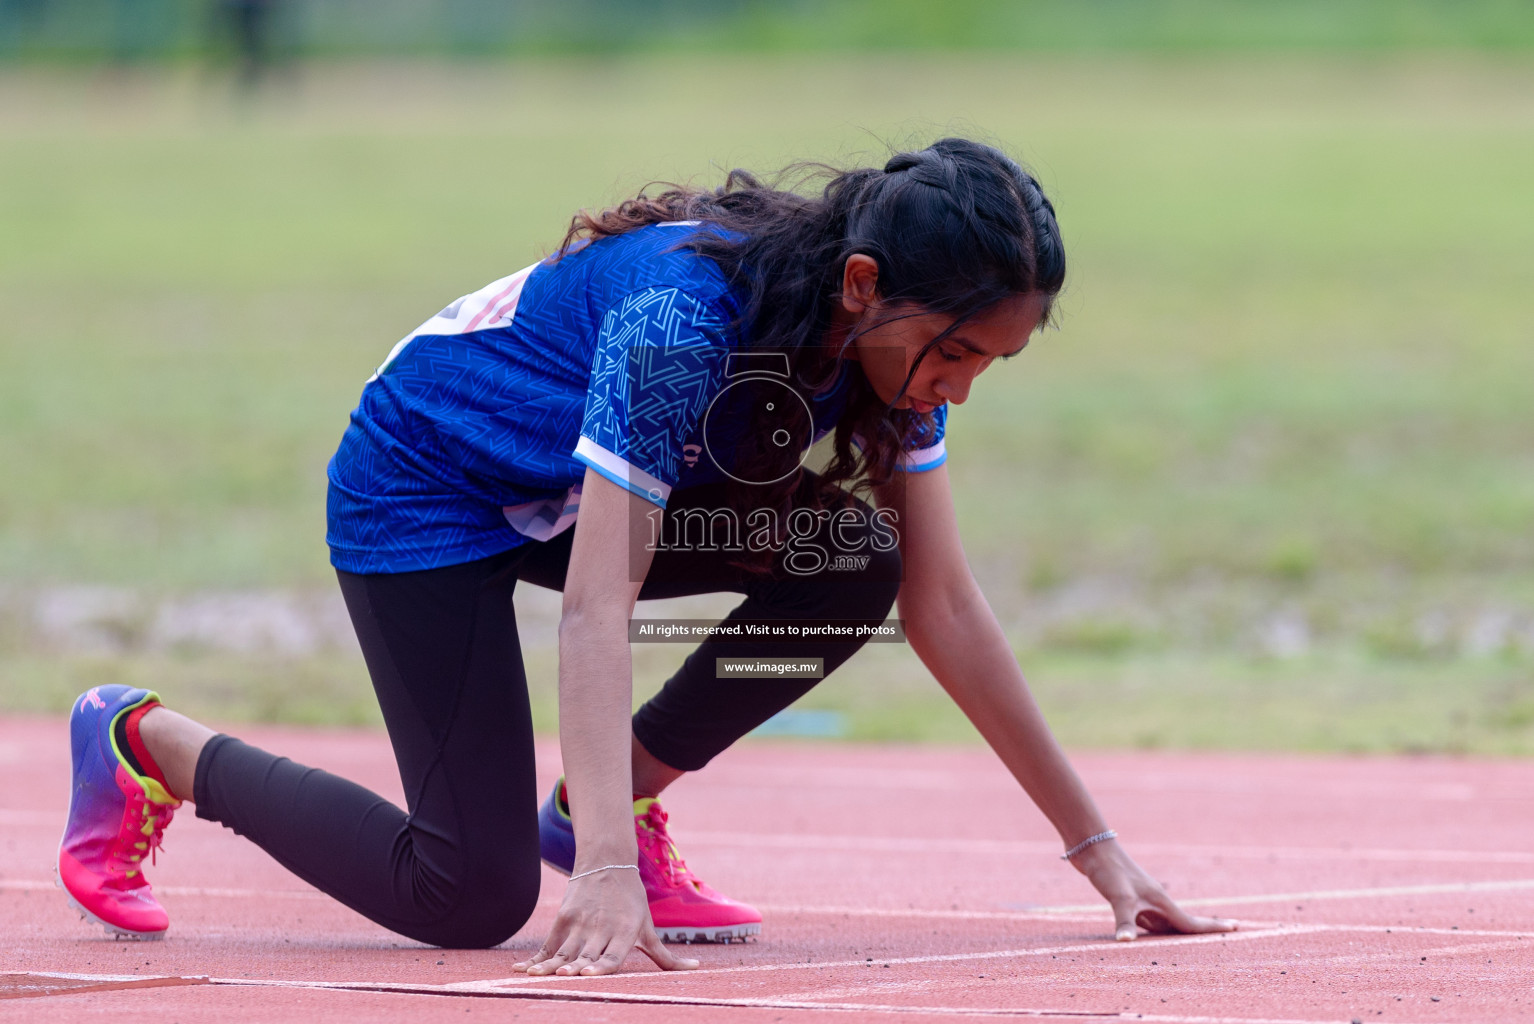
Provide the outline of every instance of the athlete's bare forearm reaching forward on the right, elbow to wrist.
[[900,593],[911,647],[1066,845],[1101,832],[1103,816],[1049,731],[979,586],[971,578],[950,595],[946,607],[923,609]]

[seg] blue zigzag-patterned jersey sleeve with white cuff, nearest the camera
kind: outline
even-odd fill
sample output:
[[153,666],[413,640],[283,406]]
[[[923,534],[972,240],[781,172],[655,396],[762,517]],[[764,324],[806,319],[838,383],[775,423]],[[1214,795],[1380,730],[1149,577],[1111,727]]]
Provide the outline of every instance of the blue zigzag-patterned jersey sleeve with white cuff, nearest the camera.
[[601,322],[575,458],[664,509],[733,343],[724,316],[686,291],[624,296]]

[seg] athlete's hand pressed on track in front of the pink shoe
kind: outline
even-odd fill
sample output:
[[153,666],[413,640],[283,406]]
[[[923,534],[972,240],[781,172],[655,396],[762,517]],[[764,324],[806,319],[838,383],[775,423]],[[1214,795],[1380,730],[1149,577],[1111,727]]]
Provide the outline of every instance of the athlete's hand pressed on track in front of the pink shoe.
[[532,958],[512,969],[529,975],[611,975],[635,947],[661,970],[698,967],[696,960],[676,957],[661,944],[640,872],[598,871],[565,888],[549,937]]

